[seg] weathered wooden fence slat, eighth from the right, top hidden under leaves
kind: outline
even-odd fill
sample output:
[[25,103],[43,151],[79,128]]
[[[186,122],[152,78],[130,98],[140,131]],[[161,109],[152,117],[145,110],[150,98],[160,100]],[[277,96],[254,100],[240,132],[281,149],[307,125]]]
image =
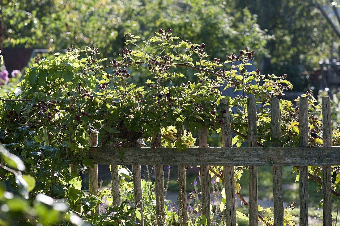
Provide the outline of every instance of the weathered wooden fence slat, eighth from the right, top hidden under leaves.
[[[153,142],[156,147],[162,147],[160,136],[153,134]],[[155,193],[156,193],[156,221],[158,226],[165,224],[165,202],[164,202],[164,170],[162,165],[155,167]]]

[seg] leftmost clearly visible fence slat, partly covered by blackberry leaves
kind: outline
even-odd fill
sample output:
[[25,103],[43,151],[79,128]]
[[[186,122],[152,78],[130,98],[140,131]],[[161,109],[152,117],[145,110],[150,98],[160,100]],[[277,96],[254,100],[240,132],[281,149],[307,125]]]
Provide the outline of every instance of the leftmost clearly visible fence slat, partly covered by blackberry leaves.
[[[98,145],[98,134],[91,133],[88,138],[89,144],[92,147],[96,147]],[[98,195],[99,192],[99,181],[98,181],[98,165],[93,164],[93,168],[90,167],[88,172],[88,180],[89,180],[89,187],[90,193],[94,195]],[[99,207],[96,208],[96,213],[99,214]]]

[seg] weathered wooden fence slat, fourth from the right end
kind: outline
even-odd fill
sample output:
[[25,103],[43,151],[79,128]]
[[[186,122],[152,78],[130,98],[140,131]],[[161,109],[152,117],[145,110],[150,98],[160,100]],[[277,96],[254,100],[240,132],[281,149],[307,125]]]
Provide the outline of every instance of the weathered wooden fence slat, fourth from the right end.
[[[256,100],[248,97],[248,146],[257,146],[256,137]],[[258,226],[257,208],[257,166],[249,166],[249,225]]]

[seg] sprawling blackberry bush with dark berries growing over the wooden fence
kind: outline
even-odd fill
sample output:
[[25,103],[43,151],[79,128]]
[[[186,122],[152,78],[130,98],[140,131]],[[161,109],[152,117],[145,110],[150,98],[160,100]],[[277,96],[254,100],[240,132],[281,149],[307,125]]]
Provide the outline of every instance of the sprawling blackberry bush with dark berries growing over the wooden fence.
[[[299,108],[282,98],[285,90],[293,89],[289,75],[247,71],[256,57],[254,50],[245,47],[226,59],[215,58],[208,55],[208,44],[181,40],[171,29],[159,29],[147,40],[132,33],[124,37],[126,48],[116,59],[101,58],[101,49],[96,47],[70,45],[66,53],[55,53],[52,60],[37,60],[17,87],[0,99],[0,142],[7,150],[1,148],[1,225],[136,224],[140,216],[132,202],[129,169],[121,166],[120,206],[110,205],[108,188],[101,186],[98,194],[81,190],[79,172],[93,166],[87,154],[91,134],[98,134],[102,145],[121,156],[132,136],[155,147],[153,134],[162,135],[162,146],[177,147],[180,152],[195,146],[200,128],[207,127],[210,135],[219,133],[225,123],[223,115],[230,113],[236,135],[233,145],[240,147],[248,140],[247,98],[251,96],[261,106],[257,111],[258,146],[266,148],[271,142],[299,146]],[[148,73],[152,79],[137,85],[134,76],[138,73]],[[224,97],[222,87],[240,90],[242,95]],[[321,107],[312,92],[302,96],[309,101],[309,144],[322,146]],[[272,97],[281,103],[280,140],[271,139]],[[231,112],[221,104],[222,99]],[[333,131],[332,142],[339,146],[339,130]],[[241,190],[237,182],[247,169],[235,167],[236,192]],[[299,174],[296,168],[293,171]],[[310,167],[309,172],[322,178],[321,167]],[[339,167],[334,166],[333,172],[333,189],[339,191]],[[224,225],[223,188],[218,183],[223,178],[222,167],[211,166],[211,176],[217,202],[212,219],[214,224]],[[204,225],[197,183],[194,186],[189,224]],[[145,225],[154,225],[154,184],[143,181],[142,188],[143,220]],[[295,204],[291,201],[285,210],[285,222],[290,225],[294,225],[290,211]],[[178,225],[179,210],[170,202],[166,205],[164,224]],[[97,206],[100,213],[95,211]],[[263,222],[273,225],[272,210],[259,210]],[[46,218],[47,214],[53,218]],[[237,216],[247,218],[241,212]]]

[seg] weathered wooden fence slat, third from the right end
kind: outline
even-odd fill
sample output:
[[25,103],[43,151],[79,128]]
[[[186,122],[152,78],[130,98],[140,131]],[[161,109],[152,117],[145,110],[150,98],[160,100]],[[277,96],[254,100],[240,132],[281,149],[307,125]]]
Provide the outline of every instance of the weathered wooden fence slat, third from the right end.
[[[272,139],[279,139],[281,134],[280,124],[280,101],[270,99],[271,110],[271,133]],[[277,147],[279,143],[272,142]],[[273,201],[274,201],[274,225],[283,225],[283,192],[282,192],[282,169],[281,166],[273,166]]]

